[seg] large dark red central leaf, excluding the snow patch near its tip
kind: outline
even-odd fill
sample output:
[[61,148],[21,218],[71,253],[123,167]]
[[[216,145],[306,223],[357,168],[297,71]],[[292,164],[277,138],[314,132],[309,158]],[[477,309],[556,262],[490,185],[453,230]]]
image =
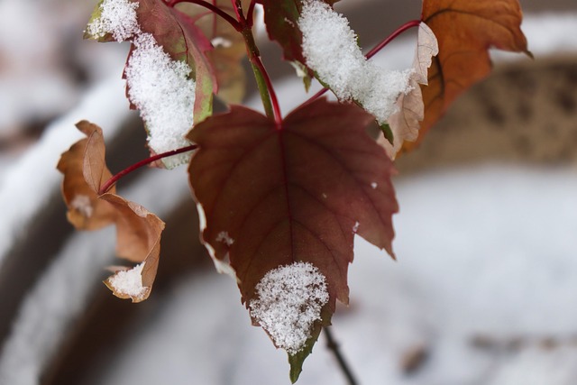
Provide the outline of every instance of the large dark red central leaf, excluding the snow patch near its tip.
[[[270,118],[233,106],[188,134],[199,146],[188,171],[206,217],[202,239],[215,260],[229,258],[243,302],[279,266],[311,263],[325,276],[329,300],[303,351],[292,356],[293,369],[330,322],[336,299],[348,302],[354,224],[362,223],[358,234],[392,255],[393,168],[365,133],[372,120],[356,105],[319,99],[288,115],[281,130]],[[233,244],[216,241],[223,229]]]

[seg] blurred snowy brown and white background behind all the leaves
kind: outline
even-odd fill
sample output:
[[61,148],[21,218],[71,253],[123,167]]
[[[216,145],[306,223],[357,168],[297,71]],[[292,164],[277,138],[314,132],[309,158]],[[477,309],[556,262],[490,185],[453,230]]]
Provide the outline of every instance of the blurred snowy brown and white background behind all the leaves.
[[[0,384],[283,384],[286,354],[252,327],[198,242],[186,168],[142,170],[120,193],[160,216],[159,276],[142,304],[101,283],[114,229],[66,221],[56,163],[81,119],[110,169],[147,157],[121,79],[128,45],[83,41],[96,1],[0,0]],[[577,4],[521,0],[535,60],[495,52],[417,151],[399,157],[398,261],[355,241],[351,305],[334,335],[362,384],[577,382]],[[343,0],[370,48],[420,2]],[[283,112],[307,97],[261,31]],[[412,62],[404,34],[376,60]],[[259,107],[249,79],[246,103]],[[301,384],[344,384],[325,340]]]

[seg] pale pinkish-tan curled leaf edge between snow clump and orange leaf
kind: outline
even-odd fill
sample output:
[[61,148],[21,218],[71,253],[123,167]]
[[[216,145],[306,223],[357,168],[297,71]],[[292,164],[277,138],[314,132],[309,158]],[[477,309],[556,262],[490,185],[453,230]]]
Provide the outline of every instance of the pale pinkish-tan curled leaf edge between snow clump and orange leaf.
[[439,53],[435,34],[426,25],[420,23],[417,36],[417,52],[413,61],[414,71],[409,77],[411,90],[398,96],[398,111],[389,117],[389,127],[392,132],[392,144],[384,137],[379,142],[387,150],[391,159],[395,159],[403,142],[414,142],[418,137],[420,122],[425,118],[425,105],[419,84],[426,85],[427,72],[433,57]]

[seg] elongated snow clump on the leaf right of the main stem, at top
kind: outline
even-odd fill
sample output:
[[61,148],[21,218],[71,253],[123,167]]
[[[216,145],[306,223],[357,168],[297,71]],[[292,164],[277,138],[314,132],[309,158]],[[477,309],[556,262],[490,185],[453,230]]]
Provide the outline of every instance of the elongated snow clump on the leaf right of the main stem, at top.
[[385,70],[367,61],[348,20],[322,1],[304,3],[298,26],[307,66],[339,99],[355,100],[379,124],[386,123],[397,111],[398,96],[411,89],[408,78],[412,69]]

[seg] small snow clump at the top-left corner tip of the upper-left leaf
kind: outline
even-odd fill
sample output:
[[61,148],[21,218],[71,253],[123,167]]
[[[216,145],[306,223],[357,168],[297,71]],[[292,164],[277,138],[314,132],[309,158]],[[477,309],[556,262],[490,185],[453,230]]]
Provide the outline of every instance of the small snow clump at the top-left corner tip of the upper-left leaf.
[[105,0],[100,5],[100,17],[87,25],[87,32],[95,37],[110,33],[115,41],[126,41],[141,32],[136,20],[138,3],[129,0]]

